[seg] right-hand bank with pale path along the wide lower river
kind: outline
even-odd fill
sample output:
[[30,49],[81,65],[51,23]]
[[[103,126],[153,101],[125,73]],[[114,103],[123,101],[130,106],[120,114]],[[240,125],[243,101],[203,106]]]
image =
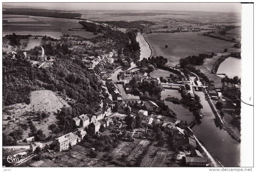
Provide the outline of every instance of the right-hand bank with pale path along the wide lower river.
[[[203,88],[203,92],[206,94],[207,91],[205,90],[205,88]],[[207,93],[208,94],[208,93]],[[209,96],[209,95],[208,95]],[[215,115],[215,119],[217,119],[218,123],[222,126],[222,128],[224,130],[226,130],[229,135],[234,139],[236,140],[237,142],[241,143],[241,138],[240,136],[238,136],[237,132],[234,132],[231,128],[229,128],[226,123],[223,122],[222,118],[220,117],[220,114],[218,113],[214,103],[212,102],[211,99],[208,99],[207,102],[209,103],[211,109],[212,109],[212,112],[214,113]]]

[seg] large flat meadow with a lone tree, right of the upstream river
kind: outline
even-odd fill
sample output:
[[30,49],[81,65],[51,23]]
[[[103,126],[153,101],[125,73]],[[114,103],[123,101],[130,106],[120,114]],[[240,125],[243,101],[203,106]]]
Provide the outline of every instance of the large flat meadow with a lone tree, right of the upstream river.
[[[155,33],[145,34],[146,39],[152,45],[155,56],[164,56],[169,64],[178,64],[179,58],[198,55],[202,53],[219,53],[225,48],[232,48],[233,42],[210,38],[209,36]],[[165,48],[168,45],[168,48]],[[230,50],[231,51],[231,50]],[[240,50],[232,48],[232,52]]]

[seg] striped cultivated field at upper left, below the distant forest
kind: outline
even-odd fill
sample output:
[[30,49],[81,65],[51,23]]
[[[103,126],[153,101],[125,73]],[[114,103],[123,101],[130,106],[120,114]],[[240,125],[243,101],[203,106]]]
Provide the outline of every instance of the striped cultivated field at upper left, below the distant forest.
[[61,29],[37,21],[30,16],[3,15],[3,36],[12,33],[19,35],[47,35],[59,39]]

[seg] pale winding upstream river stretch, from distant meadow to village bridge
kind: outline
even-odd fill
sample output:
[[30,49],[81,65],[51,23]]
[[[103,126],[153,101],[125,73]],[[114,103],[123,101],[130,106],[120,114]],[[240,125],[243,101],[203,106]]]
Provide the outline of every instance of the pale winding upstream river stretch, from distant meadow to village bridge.
[[[141,47],[140,59],[138,59],[138,60],[142,60],[144,57],[148,58],[151,55],[151,50],[150,50],[147,42],[145,41],[143,35],[141,33],[138,33],[137,36],[136,36],[136,40],[137,40],[137,42],[140,43],[140,47]],[[132,62],[131,66],[122,67],[122,68],[116,70],[114,73],[111,74],[112,80],[117,80],[117,75],[118,75],[119,72],[135,68],[136,67],[136,62],[137,61]]]

